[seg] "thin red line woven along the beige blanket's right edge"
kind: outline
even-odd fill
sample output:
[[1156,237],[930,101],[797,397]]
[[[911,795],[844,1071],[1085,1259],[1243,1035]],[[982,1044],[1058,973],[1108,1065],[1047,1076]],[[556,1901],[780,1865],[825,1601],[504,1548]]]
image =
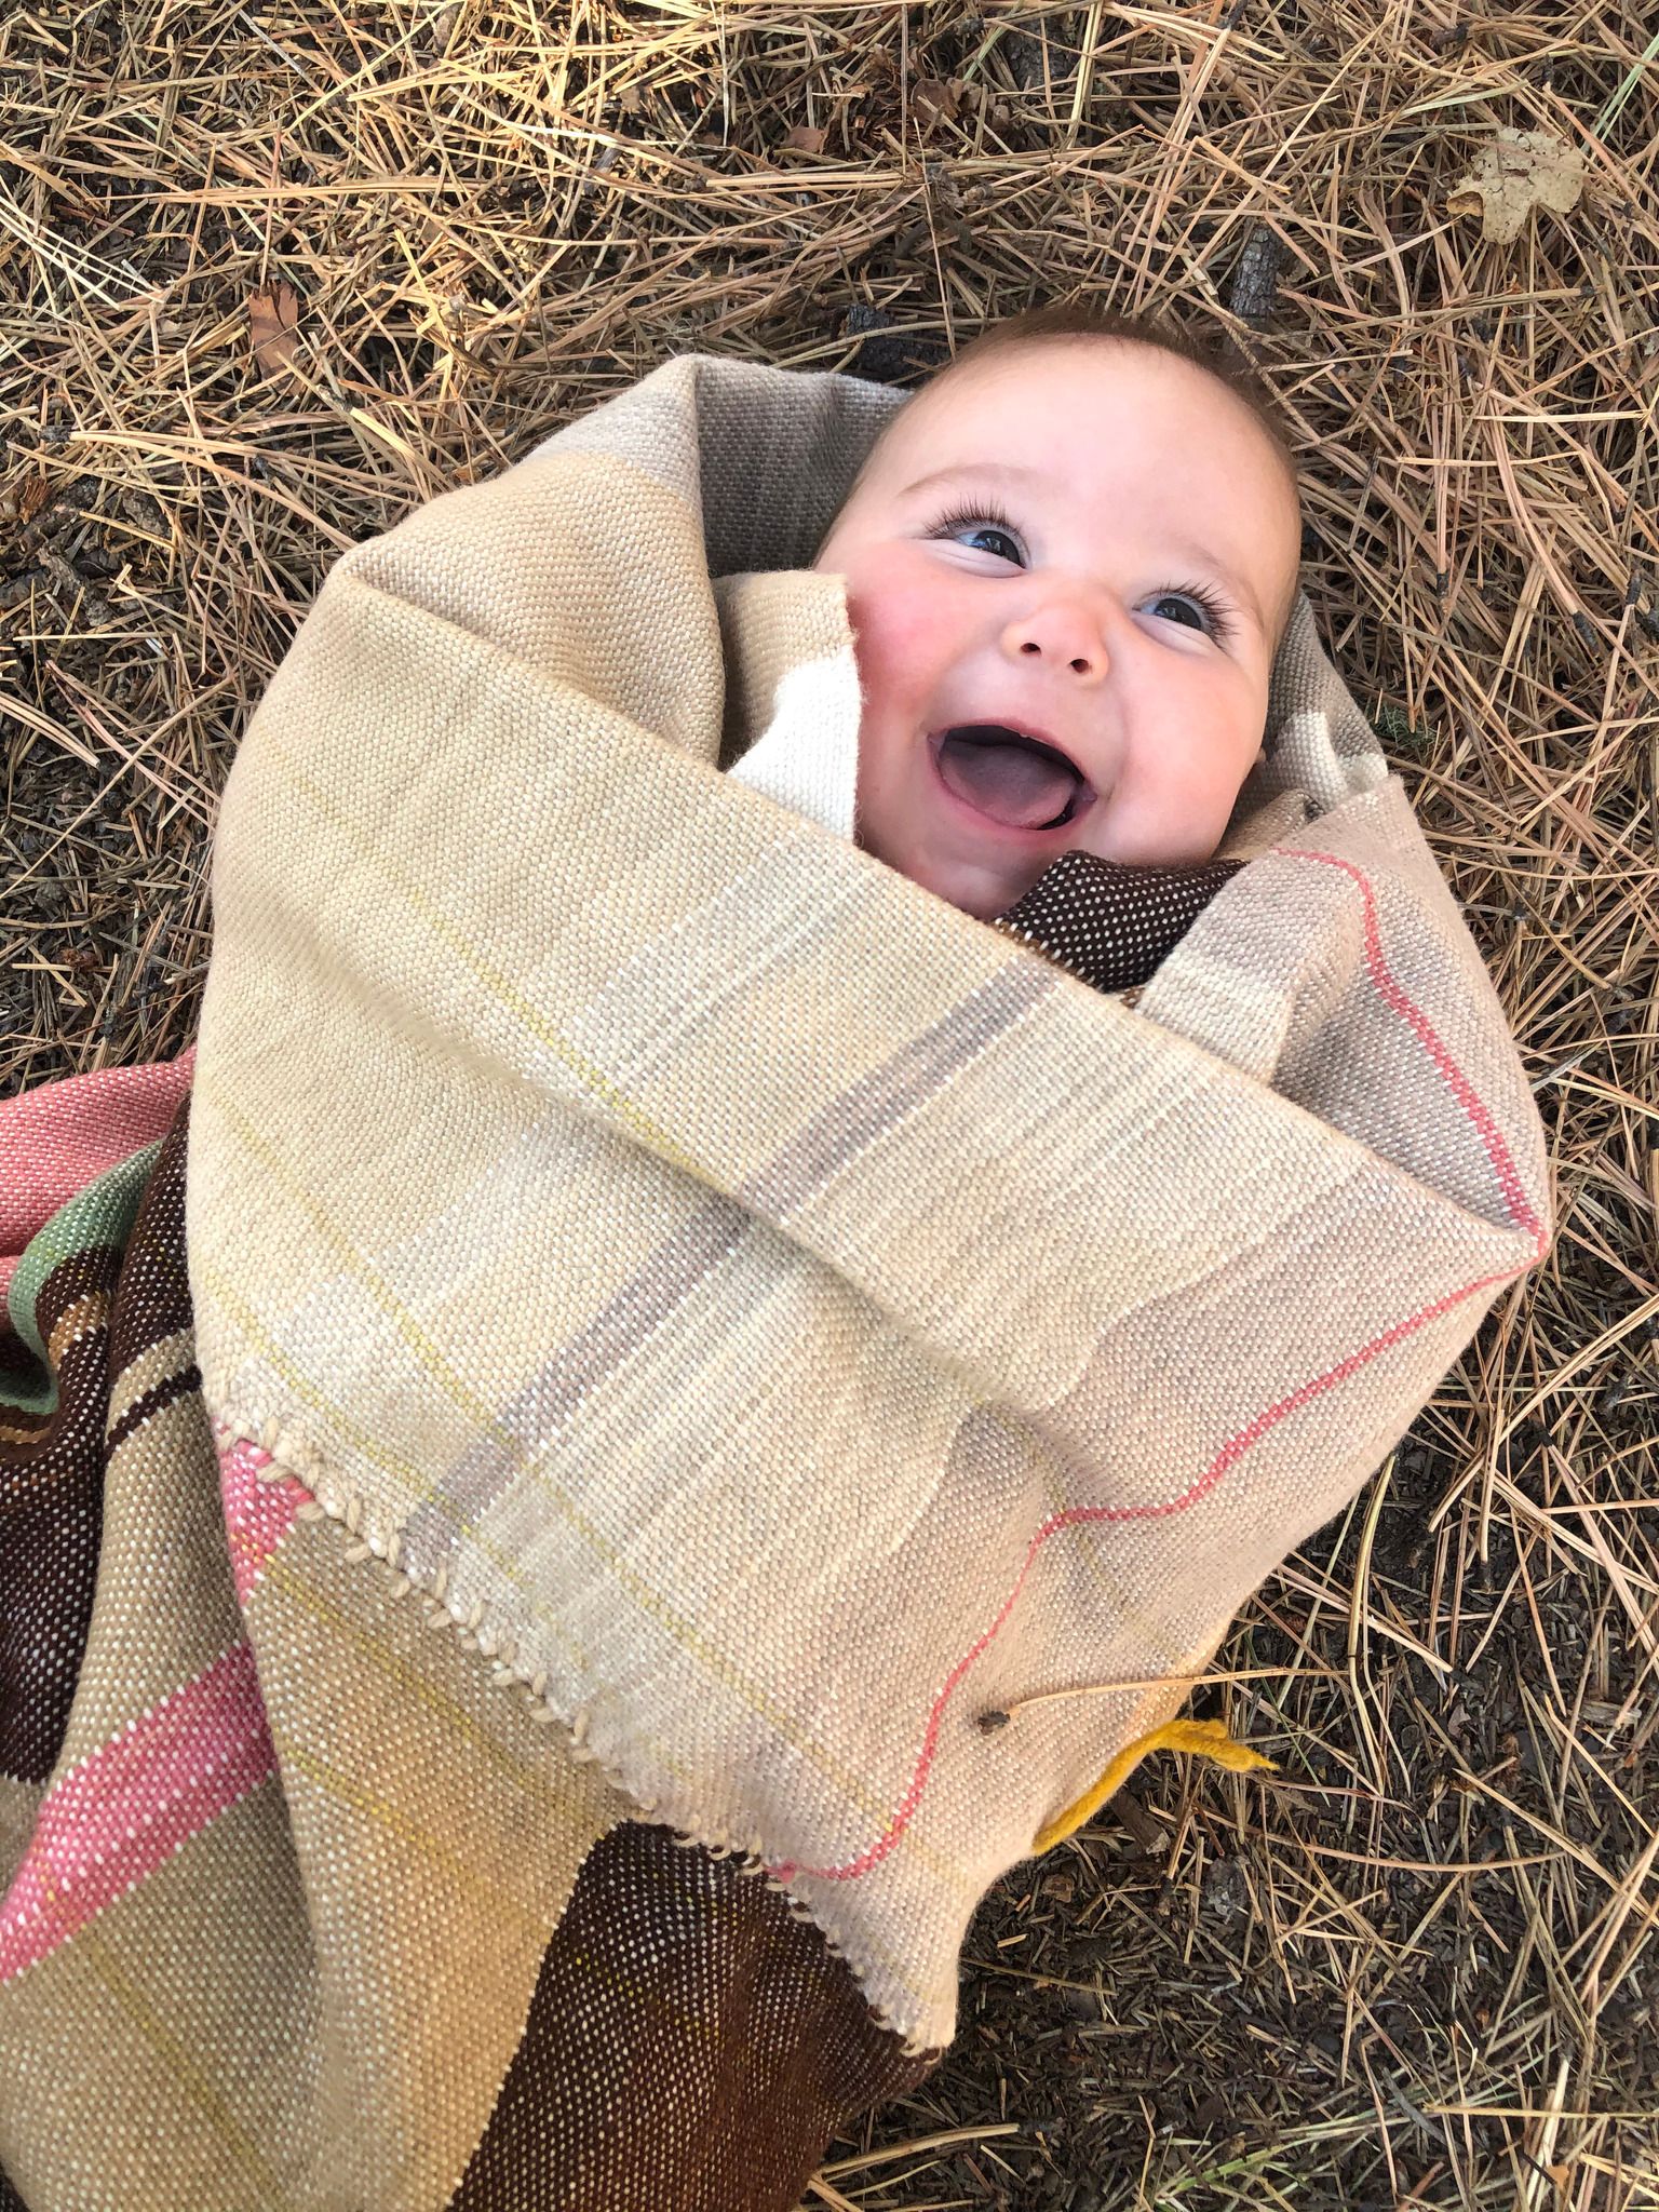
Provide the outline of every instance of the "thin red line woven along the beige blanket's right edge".
[[1345,1383],[1352,1374],[1358,1374],[1360,1367],[1369,1365],[1380,1352],[1387,1352],[1391,1345],[1398,1345],[1407,1336],[1413,1336],[1420,1327],[1425,1327],[1425,1323],[1436,1321],[1440,1314],[1449,1314],[1453,1305],[1462,1305],[1462,1301],[1473,1298],[1475,1292],[1491,1290],[1493,1283],[1511,1283],[1517,1274],[1526,1274],[1526,1267],[1533,1267],[1544,1256],[1548,1237],[1544,1234],[1544,1225],[1540,1223],[1537,1214],[1526,1203],[1526,1192],[1522,1188],[1515,1159],[1509,1146],[1504,1144],[1498,1124],[1493,1121],[1484,1102],[1478,1097],[1469,1077],[1462,1073],[1462,1068],[1447,1051],[1444,1042],[1436,1033],[1429,1018],[1405,993],[1398,978],[1387,964],[1387,958],[1383,953],[1383,936],[1376,922],[1376,898],[1371,894],[1369,878],[1360,874],[1360,869],[1354,867],[1352,860],[1340,860],[1334,852],[1303,852],[1301,847],[1294,845],[1274,845],[1272,849],[1281,854],[1285,860],[1321,860],[1327,867],[1340,867],[1343,874],[1352,876],[1354,883],[1360,887],[1360,896],[1365,898],[1365,969],[1376,989],[1380,991],[1383,1000],[1400,1015],[1400,1020],[1411,1029],[1422,1048],[1429,1053],[1436,1068],[1447,1079],[1451,1095],[1458,1099],[1462,1110],[1473,1121],[1482,1144],[1486,1146],[1486,1157],[1493,1166],[1493,1172],[1498,1175],[1500,1190],[1504,1192],[1504,1206],[1509,1208],[1509,1219],[1517,1228],[1528,1230],[1531,1237],[1535,1239],[1533,1256],[1520,1267],[1509,1267],[1502,1274],[1482,1274],[1475,1283],[1467,1283],[1462,1290],[1453,1290],[1444,1298],[1436,1298],[1433,1305],[1420,1307],[1407,1321],[1396,1321],[1391,1329],[1385,1329],[1380,1336],[1374,1336],[1369,1345],[1360,1345],[1358,1352],[1349,1352],[1347,1358],[1336,1363],[1336,1367],[1327,1367],[1323,1376],[1314,1376],[1310,1383],[1298,1385],[1298,1389],[1290,1391],[1287,1398],[1281,1398],[1276,1405],[1270,1405],[1263,1413],[1256,1413],[1252,1422],[1239,1429],[1237,1436],[1230,1436],[1228,1442],[1221,1447],[1221,1451],[1214,1455],[1214,1460],[1206,1467],[1206,1471],[1179,1498],[1170,1498],[1164,1504],[1148,1504],[1148,1506],[1068,1506],[1064,1513],[1051,1515],[1031,1537],[1026,1555],[1020,1564],[1020,1573],[1013,1577],[1013,1588],[1002,1599],[995,1619],[973,1639],[973,1644],[962,1652],[951,1672],[945,1677],[945,1688],[933,1699],[933,1710],[929,1712],[927,1728],[922,1730],[922,1747],[909,1778],[909,1790],[905,1790],[905,1796],[898,1801],[898,1807],[894,1809],[894,1816],[883,1829],[883,1834],[872,1845],[867,1845],[867,1849],[863,1849],[858,1858],[849,1858],[841,1867],[801,1867],[794,1865],[792,1860],[770,1867],[768,1871],[776,1876],[776,1880],[781,1882],[792,1880],[796,1874],[810,1874],[814,1880],[821,1882],[856,1882],[860,1874],[869,1874],[872,1867],[878,1867],[880,1860],[887,1858],[887,1854],[894,1849],[898,1838],[909,1827],[911,1816],[916,1814],[916,1805],[920,1803],[922,1790],[927,1787],[927,1778],[933,1767],[933,1754],[938,1750],[938,1734],[945,1723],[945,1708],[949,1705],[956,1686],[973,1666],[973,1661],[980,1657],[980,1652],[1000,1635],[1002,1624],[1009,1619],[1020,1599],[1020,1590],[1024,1588],[1026,1575],[1031,1573],[1031,1562],[1037,1557],[1037,1553],[1042,1551],[1042,1546],[1048,1542],[1051,1535],[1060,1535],[1062,1528],[1077,1528],[1084,1522],[1166,1520],[1170,1513],[1186,1513],[1201,1498],[1206,1498],[1217,1486],[1217,1482],[1221,1482],[1221,1478],[1245,1455],[1245,1451],[1250,1451],[1252,1444],[1259,1444],[1261,1438],[1267,1436],[1267,1431],[1274,1429],[1287,1413],[1298,1411],[1312,1398],[1318,1398],[1327,1389],[1334,1389],[1338,1383]]

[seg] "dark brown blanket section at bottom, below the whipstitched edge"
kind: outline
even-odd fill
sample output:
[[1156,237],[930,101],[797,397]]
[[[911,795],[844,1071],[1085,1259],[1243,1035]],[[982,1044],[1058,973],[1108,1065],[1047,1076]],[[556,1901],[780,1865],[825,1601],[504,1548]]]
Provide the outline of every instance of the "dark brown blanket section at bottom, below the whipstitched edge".
[[628,1823],[588,1854],[449,2212],[790,2212],[929,2073],[783,1891]]

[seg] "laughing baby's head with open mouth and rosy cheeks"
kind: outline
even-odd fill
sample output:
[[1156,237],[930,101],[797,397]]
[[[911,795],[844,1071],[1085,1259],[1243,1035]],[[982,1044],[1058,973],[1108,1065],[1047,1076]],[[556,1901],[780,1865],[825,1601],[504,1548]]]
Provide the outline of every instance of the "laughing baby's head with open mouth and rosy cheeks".
[[1048,341],[922,392],[814,562],[847,580],[858,843],[982,920],[1073,847],[1210,858],[1298,555],[1283,458],[1186,361]]

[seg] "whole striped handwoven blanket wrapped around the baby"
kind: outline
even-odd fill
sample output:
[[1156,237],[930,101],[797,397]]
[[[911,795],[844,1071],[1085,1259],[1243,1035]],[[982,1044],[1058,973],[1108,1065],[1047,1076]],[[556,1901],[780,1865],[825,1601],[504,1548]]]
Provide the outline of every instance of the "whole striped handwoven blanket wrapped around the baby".
[[672,361],[345,555],[250,726],[188,1148],[13,1281],[33,1509],[106,1451],[0,1783],[35,2212],[785,2208],[1546,1248],[1305,602],[1137,995],[852,843],[805,564],[894,405]]

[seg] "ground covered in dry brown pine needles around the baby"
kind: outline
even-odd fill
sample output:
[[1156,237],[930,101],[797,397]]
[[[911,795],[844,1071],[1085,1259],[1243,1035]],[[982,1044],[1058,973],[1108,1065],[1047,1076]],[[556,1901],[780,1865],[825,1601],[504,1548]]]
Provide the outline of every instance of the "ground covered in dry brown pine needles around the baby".
[[[1447,212],[1500,126],[1586,168],[1509,246]],[[905,380],[1084,290],[1296,427],[1559,1243],[1201,1694],[1281,1776],[1146,1770],[1015,1871],[818,2205],[1659,2203],[1657,148],[1637,0],[4,13],[0,1088],[190,1037],[330,557],[666,354]]]

